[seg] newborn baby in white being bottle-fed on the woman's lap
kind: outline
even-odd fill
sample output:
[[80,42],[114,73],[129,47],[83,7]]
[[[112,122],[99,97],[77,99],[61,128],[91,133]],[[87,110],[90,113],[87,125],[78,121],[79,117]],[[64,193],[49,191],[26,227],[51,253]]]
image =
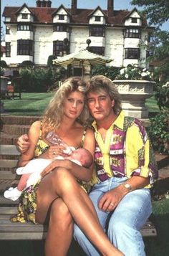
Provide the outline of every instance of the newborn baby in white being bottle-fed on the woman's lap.
[[45,159],[45,158],[35,158],[29,163],[26,164],[24,167],[19,167],[16,169],[16,174],[22,175],[21,179],[19,180],[19,184],[16,188],[9,188],[4,192],[4,197],[7,199],[11,199],[12,201],[16,201],[21,192],[26,189],[27,187],[36,184],[39,179],[41,179],[42,171],[52,163],[54,159],[64,160],[69,159],[74,163],[79,164],[80,166],[90,167],[93,161],[92,154],[90,151],[87,151],[85,148],[78,148],[75,149],[73,147],[66,148],[64,153],[69,154],[66,157],[63,156],[56,156],[52,159]]

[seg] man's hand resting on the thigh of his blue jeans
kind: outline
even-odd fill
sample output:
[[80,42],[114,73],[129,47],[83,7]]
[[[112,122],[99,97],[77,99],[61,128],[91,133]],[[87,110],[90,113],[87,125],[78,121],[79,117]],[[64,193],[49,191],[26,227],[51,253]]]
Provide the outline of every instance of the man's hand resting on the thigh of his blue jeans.
[[111,212],[117,207],[125,194],[127,193],[122,189],[122,186],[117,186],[115,189],[107,191],[100,199],[99,209],[103,212]]

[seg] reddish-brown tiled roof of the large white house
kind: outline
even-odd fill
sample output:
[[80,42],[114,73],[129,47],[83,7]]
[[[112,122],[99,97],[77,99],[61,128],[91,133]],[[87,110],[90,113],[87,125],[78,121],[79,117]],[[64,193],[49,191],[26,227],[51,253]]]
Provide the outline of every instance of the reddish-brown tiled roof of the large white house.
[[[21,8],[6,6],[2,16],[11,17],[11,22],[17,22],[16,12]],[[65,8],[70,14],[71,9]],[[29,10],[34,14],[34,22],[39,23],[53,23],[52,14],[57,11],[57,8],[49,7],[29,7]],[[88,17],[92,13],[93,9],[77,9],[77,14],[72,15],[70,22],[74,24],[89,24]],[[102,10],[107,15],[107,10]],[[127,10],[118,10],[113,12],[113,16],[107,17],[107,24],[113,26],[124,26],[125,17],[130,14]],[[143,27],[147,27],[148,24],[145,19],[143,19]]]

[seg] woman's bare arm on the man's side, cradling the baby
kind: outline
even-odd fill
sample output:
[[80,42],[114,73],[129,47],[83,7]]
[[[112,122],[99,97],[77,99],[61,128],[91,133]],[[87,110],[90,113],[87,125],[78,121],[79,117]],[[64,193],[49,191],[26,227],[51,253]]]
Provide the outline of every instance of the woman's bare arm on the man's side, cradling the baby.
[[[92,156],[94,157],[95,153],[95,136],[91,129],[87,129],[87,133],[84,139],[84,148],[86,148],[90,153],[92,153]],[[47,166],[46,169],[42,172],[42,176],[47,175],[50,171],[55,169],[56,167],[64,167],[66,169],[69,169],[69,171],[77,178],[82,181],[90,181],[92,178],[92,169],[93,169],[94,163],[90,166],[90,169],[87,169],[85,167],[79,166],[76,163],[73,163],[70,160],[55,160],[53,161],[49,166]]]

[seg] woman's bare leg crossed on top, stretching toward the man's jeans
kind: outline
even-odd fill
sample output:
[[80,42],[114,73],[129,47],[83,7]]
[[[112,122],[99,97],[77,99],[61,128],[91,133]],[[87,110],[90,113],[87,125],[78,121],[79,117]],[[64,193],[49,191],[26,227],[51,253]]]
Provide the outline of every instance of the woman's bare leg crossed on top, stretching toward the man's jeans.
[[42,179],[37,190],[37,221],[44,222],[50,204],[59,196],[67,205],[74,221],[102,255],[122,255],[103,232],[89,196],[79,187],[74,176],[62,168],[47,176]]

